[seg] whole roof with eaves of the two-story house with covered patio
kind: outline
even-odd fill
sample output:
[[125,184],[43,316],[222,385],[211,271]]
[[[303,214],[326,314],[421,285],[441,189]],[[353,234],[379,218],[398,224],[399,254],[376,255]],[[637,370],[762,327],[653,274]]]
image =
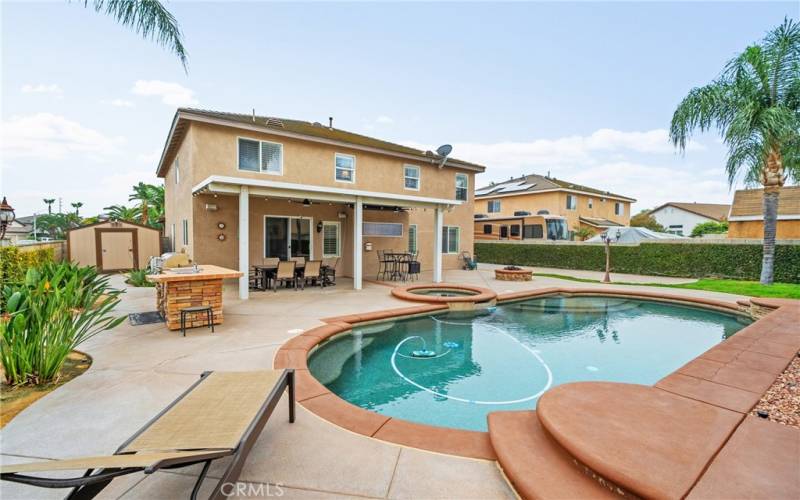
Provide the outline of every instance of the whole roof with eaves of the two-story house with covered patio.
[[[169,165],[180,146],[183,136],[186,133],[187,122],[213,121],[220,125],[231,125],[237,127],[256,128],[264,133],[294,136],[299,139],[318,140],[334,144],[342,144],[355,149],[374,150],[379,153],[389,153],[404,155],[417,160],[428,160],[438,163],[441,157],[430,151],[410,148],[401,144],[396,144],[366,135],[348,132],[338,128],[331,128],[319,122],[307,122],[302,120],[292,120],[287,118],[276,118],[272,116],[258,116],[252,114],[226,113],[206,109],[178,108],[173,118],[172,128],[170,129],[167,142],[156,171],[159,177],[166,175]],[[446,165],[460,167],[468,170],[483,172],[486,167],[477,163],[470,163],[456,158],[447,158]]]

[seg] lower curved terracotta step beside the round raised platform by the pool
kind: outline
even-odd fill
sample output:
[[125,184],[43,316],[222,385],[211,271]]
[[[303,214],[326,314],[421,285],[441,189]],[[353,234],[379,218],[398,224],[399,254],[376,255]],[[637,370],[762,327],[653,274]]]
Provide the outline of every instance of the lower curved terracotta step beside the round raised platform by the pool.
[[490,413],[488,421],[497,461],[522,498],[619,498],[548,434],[535,411]]

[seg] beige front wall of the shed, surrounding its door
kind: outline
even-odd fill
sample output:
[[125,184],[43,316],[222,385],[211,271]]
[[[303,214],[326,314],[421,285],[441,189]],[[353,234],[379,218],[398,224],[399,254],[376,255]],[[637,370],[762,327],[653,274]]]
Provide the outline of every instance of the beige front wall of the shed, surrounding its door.
[[118,222],[116,224],[98,224],[77,228],[67,233],[67,253],[72,262],[82,266],[96,266],[97,243],[95,229],[133,229],[136,231],[138,265],[142,269],[147,266],[150,257],[160,255],[159,232],[157,229],[144,228],[136,224]]

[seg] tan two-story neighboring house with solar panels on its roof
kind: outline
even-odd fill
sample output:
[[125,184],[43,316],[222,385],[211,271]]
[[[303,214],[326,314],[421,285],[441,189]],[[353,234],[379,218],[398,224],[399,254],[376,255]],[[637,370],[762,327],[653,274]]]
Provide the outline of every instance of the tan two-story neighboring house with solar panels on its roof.
[[[556,215],[569,231],[588,227],[603,231],[627,226],[636,200],[542,175],[525,175],[492,183],[475,192],[475,212],[488,218]],[[479,220],[476,218],[476,228]]]

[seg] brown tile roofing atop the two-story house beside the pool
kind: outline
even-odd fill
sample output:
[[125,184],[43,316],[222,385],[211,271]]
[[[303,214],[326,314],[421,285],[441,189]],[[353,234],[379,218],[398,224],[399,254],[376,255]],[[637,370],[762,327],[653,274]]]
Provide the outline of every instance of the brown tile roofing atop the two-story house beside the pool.
[[[336,142],[342,142],[346,144],[352,144],[354,146],[380,149],[392,153],[401,153],[401,154],[425,157],[430,159],[438,159],[438,156],[435,153],[431,153],[429,151],[422,151],[420,149],[410,148],[408,146],[403,146],[401,144],[396,144],[393,142],[376,139],[374,137],[369,137],[366,135],[356,134],[355,132],[348,132],[347,130],[330,128],[327,125],[323,125],[319,122],[307,122],[302,120],[292,120],[287,118],[276,118],[272,116],[259,116],[259,115],[256,115],[254,119],[252,114],[227,113],[222,111],[213,111],[213,110],[195,109],[195,108],[178,108],[177,112],[175,113],[174,124],[178,125],[179,118],[191,119],[192,116],[222,120],[230,122],[232,124],[240,124],[248,126],[255,125],[260,128],[263,128],[264,132],[266,133],[269,133],[271,129],[275,133],[281,133],[281,132],[292,133],[302,136],[315,137]],[[170,141],[170,139],[171,138],[167,138],[167,144],[165,145],[164,154],[162,155],[162,159],[158,168],[159,174],[161,174],[162,170],[165,170],[164,168],[166,166],[165,164],[167,165],[169,164],[169,161],[164,161],[164,160],[171,159],[170,150],[173,147],[177,147],[177,145],[180,143],[179,140]],[[481,172],[483,172],[486,169],[486,167],[483,165],[466,162],[452,157],[448,157],[447,164],[451,166],[463,166],[465,168],[470,168]]]

